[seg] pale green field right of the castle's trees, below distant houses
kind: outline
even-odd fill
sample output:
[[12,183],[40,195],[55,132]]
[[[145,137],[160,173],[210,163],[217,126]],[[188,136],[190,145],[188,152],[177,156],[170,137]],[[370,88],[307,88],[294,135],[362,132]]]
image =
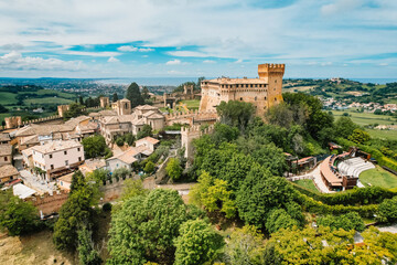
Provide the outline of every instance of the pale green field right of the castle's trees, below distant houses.
[[353,113],[350,110],[332,110],[335,118],[343,116],[344,113],[348,113],[351,115],[350,118],[360,126],[372,124],[390,125],[397,123],[390,116],[375,115],[372,113]]

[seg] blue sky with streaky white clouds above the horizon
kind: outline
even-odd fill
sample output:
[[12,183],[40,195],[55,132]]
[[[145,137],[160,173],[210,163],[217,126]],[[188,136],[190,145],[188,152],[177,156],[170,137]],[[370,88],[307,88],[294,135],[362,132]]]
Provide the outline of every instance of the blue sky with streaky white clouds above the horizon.
[[396,0],[0,0],[2,77],[397,77]]

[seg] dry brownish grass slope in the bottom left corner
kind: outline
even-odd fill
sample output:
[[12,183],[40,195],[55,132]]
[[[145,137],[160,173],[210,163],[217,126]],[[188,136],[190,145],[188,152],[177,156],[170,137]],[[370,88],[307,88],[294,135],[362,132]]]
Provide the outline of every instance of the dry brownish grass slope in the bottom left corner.
[[55,248],[50,231],[25,236],[6,236],[0,239],[0,264],[77,264],[71,254]]

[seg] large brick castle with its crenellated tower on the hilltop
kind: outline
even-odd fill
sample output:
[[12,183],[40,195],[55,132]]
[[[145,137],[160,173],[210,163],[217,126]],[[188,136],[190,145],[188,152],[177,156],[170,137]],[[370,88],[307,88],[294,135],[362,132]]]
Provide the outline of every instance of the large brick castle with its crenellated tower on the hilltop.
[[256,115],[282,102],[281,88],[285,64],[259,64],[259,78],[215,78],[201,83],[200,112],[215,110],[221,102],[242,100],[251,103]]

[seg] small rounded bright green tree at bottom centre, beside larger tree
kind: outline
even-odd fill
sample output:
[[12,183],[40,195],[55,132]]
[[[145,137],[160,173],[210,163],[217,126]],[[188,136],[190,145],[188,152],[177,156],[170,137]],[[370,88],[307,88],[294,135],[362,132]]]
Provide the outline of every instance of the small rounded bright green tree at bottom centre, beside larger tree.
[[195,265],[211,262],[222,246],[222,236],[203,220],[190,220],[180,227],[175,240],[175,265]]

